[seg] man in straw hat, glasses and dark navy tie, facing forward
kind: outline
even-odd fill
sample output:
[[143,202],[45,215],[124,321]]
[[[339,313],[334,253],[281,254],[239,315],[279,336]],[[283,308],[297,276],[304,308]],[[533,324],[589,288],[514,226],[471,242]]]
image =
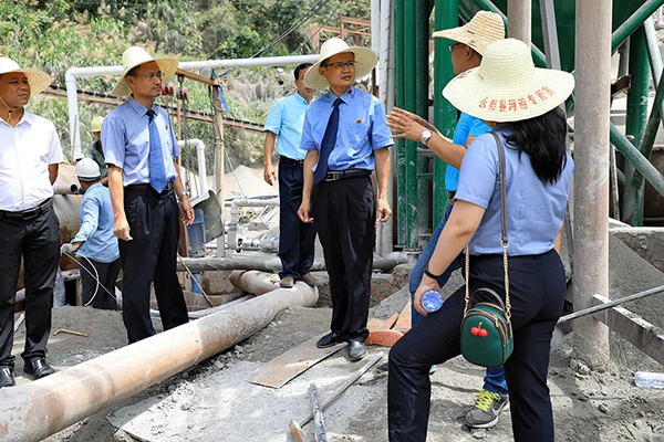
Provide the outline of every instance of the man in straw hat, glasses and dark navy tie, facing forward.
[[[324,348],[346,341],[351,360],[366,354],[375,221],[385,222],[392,214],[386,196],[388,147],[394,141],[385,110],[376,97],[353,86],[355,78],[366,76],[376,64],[373,51],[330,39],[304,76],[308,87],[330,87],[304,116],[302,148],[308,154],[298,211],[304,222],[315,219],[330,275],[331,333],[317,345]],[[370,179],[374,169],[377,203]]]

